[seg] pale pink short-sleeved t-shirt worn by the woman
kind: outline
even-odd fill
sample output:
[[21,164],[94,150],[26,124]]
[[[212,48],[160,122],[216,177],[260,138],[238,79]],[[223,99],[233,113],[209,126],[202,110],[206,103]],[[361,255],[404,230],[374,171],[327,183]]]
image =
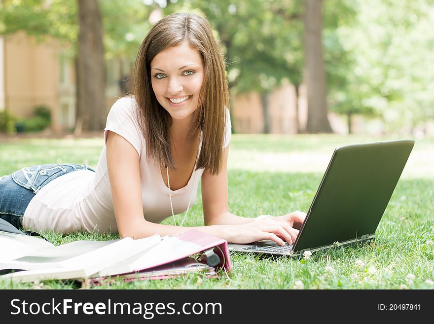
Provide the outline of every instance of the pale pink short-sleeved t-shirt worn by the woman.
[[[145,219],[159,223],[172,216],[169,189],[165,185],[160,168],[146,159],[145,139],[137,124],[137,104],[133,97],[117,100],[109,111],[104,132],[125,138],[140,156],[140,178]],[[229,144],[231,123],[226,119],[224,147]],[[202,136],[201,140],[202,142]],[[200,144],[199,144],[200,146]],[[171,190],[173,211],[180,214],[196,199],[197,188],[204,169],[195,170],[185,187]],[[106,145],[101,152],[96,172],[79,170],[52,180],[40,189],[30,201],[23,217],[25,230],[51,230],[73,233],[80,230],[117,233],[107,170]]]

